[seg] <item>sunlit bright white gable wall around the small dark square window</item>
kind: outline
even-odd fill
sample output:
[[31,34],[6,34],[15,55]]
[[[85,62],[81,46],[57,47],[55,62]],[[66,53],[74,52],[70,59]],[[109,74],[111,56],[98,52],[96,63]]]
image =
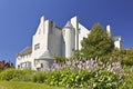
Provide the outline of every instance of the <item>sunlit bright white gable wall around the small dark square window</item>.
[[[49,20],[41,20],[40,26],[44,26],[41,28],[38,28],[37,32],[32,38],[32,68],[34,68],[34,59],[39,59],[44,51],[48,50],[48,34],[49,34],[49,28],[50,28],[50,21]],[[34,50],[34,46],[40,43],[40,48]]]

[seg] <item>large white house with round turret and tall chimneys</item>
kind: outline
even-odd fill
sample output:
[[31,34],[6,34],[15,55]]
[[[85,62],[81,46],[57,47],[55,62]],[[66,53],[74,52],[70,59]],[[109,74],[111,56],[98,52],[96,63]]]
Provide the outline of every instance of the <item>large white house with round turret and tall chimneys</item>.
[[[111,27],[106,27],[111,34]],[[63,28],[53,21],[41,17],[35,34],[32,37],[32,46],[27,47],[17,55],[16,68],[47,70],[55,56],[71,58],[74,50],[81,49],[81,40],[86,38],[90,30],[79,22],[78,17],[71,18]],[[115,48],[121,49],[121,37],[114,37]]]

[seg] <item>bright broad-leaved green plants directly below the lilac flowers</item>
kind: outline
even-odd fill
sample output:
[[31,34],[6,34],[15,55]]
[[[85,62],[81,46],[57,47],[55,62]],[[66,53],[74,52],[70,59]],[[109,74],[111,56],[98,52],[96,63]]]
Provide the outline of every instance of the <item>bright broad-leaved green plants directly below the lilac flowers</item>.
[[120,77],[104,69],[94,71],[63,69],[50,72],[47,83],[69,88],[116,89]]

